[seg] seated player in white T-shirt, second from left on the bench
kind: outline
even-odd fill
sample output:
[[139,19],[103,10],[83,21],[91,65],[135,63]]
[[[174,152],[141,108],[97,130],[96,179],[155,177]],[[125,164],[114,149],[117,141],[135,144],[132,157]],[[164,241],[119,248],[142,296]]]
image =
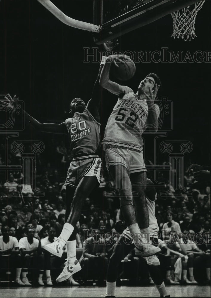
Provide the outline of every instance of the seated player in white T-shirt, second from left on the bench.
[[19,249],[22,254],[22,282],[25,286],[31,285],[27,278],[28,268],[39,269],[38,285],[44,285],[42,281],[44,264],[40,257],[41,243],[38,239],[34,238],[34,234],[35,230],[28,228],[27,237],[23,237],[19,240]]

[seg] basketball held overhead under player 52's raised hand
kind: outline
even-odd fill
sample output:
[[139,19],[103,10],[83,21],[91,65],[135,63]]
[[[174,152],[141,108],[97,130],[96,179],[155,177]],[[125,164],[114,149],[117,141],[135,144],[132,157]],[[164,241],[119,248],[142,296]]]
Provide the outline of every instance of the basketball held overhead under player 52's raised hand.
[[128,59],[126,60],[126,56],[124,55],[124,62],[120,63],[116,62],[118,65],[115,66],[115,64],[112,63],[111,65],[111,74],[118,80],[121,81],[127,81],[130,80],[135,75],[135,63],[133,60]]

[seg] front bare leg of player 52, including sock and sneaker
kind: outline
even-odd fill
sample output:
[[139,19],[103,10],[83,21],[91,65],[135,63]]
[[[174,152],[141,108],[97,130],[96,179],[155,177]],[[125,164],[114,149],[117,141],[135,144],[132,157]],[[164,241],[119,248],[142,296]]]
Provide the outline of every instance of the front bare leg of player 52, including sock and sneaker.
[[121,198],[121,211],[129,231],[133,235],[135,247],[139,250],[139,254],[147,257],[160,252],[160,249],[147,243],[147,239],[140,232],[133,207],[132,186],[126,167],[119,164],[110,166],[109,174],[117,186]]

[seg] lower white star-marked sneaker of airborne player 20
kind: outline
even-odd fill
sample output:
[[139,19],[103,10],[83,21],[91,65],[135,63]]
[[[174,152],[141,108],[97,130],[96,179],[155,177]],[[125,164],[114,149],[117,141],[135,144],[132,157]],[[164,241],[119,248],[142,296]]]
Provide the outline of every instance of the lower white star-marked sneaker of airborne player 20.
[[67,258],[67,260],[64,263],[64,268],[61,272],[61,274],[57,277],[56,282],[61,283],[62,281],[68,279],[71,275],[81,270],[81,265],[76,259],[76,257],[73,258]]

